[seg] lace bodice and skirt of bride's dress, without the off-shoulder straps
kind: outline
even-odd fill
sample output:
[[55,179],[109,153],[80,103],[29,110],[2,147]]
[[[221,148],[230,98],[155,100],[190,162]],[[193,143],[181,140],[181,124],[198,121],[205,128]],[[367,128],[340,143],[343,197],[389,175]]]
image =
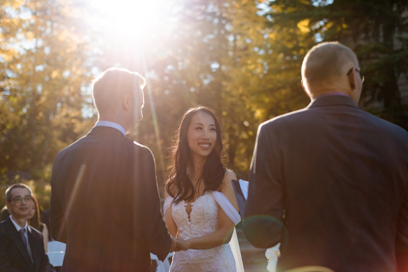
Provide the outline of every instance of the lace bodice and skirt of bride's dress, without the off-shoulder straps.
[[[220,206],[212,192],[205,192],[191,203],[190,218],[184,200],[172,204],[172,216],[178,230],[178,237],[190,239],[201,237],[218,230]],[[234,257],[229,244],[207,250],[186,250],[175,252],[170,271],[236,271]]]

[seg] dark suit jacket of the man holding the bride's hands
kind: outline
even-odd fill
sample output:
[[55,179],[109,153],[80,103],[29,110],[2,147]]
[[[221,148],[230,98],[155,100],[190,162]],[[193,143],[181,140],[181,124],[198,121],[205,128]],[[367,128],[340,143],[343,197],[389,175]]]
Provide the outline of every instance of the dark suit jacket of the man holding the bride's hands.
[[97,126],[58,153],[51,235],[67,243],[62,271],[149,271],[169,253],[151,151]]

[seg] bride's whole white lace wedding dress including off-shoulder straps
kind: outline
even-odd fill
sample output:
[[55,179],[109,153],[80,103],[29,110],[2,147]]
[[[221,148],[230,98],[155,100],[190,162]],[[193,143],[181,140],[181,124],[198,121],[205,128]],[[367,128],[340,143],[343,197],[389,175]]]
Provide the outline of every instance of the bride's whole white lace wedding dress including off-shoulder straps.
[[[228,218],[236,225],[240,221],[238,212],[221,193],[216,191],[205,192],[191,203],[190,219],[186,211],[187,203],[184,200],[177,204],[168,197],[164,203],[164,212],[171,206],[172,216],[177,225],[178,237],[190,239],[201,237],[218,230],[218,213],[221,207]],[[234,228],[230,243],[206,250],[189,249],[175,252],[170,271],[244,271],[241,254]]]

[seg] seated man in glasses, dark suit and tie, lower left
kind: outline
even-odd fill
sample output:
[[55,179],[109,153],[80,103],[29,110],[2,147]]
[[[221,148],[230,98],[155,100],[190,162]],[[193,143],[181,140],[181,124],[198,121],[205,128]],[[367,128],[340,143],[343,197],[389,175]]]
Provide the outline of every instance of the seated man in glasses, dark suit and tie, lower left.
[[44,252],[42,234],[27,224],[32,191],[25,184],[13,184],[6,190],[10,217],[0,222],[0,271],[55,271]]

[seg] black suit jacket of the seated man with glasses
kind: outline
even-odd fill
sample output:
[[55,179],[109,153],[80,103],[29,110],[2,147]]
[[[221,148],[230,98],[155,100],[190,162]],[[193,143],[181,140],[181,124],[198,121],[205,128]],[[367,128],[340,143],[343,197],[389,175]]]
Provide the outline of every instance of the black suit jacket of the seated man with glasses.
[[41,232],[28,226],[28,240],[34,263],[31,263],[27,247],[11,219],[0,222],[1,272],[55,272],[44,252]]

